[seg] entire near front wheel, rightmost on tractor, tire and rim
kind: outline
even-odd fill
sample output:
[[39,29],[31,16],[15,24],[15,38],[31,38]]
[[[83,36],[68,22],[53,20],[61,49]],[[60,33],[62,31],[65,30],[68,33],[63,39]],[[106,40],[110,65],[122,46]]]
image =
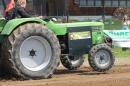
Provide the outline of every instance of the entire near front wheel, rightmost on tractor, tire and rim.
[[89,52],[88,61],[90,66],[99,72],[109,70],[115,61],[112,49],[107,44],[95,45]]

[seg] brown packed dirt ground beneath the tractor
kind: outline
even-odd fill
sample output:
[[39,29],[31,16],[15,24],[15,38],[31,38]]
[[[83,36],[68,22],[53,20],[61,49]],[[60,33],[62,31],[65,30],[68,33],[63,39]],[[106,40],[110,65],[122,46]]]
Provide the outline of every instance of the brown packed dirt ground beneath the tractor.
[[130,58],[116,59],[105,73],[93,71],[85,61],[73,71],[60,65],[49,79],[20,81],[0,77],[0,86],[130,86]]

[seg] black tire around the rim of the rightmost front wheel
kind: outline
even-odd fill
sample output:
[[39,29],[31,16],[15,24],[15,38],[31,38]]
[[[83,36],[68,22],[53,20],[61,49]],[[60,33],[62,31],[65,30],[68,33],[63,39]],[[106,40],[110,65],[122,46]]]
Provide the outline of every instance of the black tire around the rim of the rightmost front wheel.
[[[107,65],[105,66],[100,66],[97,64],[96,62],[96,54],[100,51],[100,50],[105,50],[106,52],[109,53],[110,55],[110,61]],[[114,61],[115,61],[115,56],[114,56],[114,53],[112,51],[112,49],[106,45],[106,44],[99,44],[99,45],[95,45],[89,52],[89,55],[88,55],[88,61],[89,61],[89,64],[90,66],[96,70],[96,71],[99,71],[99,72],[103,72],[103,71],[106,71],[106,70],[109,70],[113,64],[114,64]]]

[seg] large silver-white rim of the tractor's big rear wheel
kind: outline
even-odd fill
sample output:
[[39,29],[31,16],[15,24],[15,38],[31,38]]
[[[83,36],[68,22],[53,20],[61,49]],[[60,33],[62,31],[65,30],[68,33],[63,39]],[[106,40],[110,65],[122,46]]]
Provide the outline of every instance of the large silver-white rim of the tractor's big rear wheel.
[[20,47],[20,60],[29,70],[44,69],[52,56],[51,46],[46,39],[40,36],[27,38]]

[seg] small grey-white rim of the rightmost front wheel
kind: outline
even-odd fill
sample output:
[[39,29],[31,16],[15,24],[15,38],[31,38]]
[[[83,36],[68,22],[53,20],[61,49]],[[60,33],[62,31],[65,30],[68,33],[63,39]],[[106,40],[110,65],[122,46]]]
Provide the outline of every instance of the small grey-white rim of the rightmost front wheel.
[[98,66],[104,67],[107,66],[110,63],[110,55],[105,50],[100,50],[95,55],[95,60]]

